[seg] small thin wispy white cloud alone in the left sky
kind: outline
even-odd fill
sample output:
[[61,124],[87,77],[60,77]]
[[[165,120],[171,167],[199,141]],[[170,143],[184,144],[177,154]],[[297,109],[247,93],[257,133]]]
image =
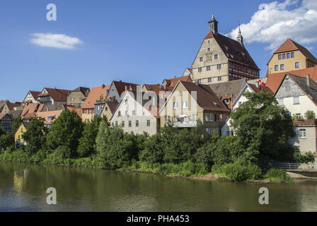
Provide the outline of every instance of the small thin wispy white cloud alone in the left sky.
[[69,37],[63,34],[33,33],[31,42],[41,47],[52,47],[57,49],[75,49],[76,45],[82,44],[78,37]]

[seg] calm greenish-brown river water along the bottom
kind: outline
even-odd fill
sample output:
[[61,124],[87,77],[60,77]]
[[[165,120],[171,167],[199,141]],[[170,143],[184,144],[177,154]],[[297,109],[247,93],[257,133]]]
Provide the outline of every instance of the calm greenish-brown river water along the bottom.
[[[260,205],[260,187],[269,205]],[[48,205],[47,188],[57,191]],[[0,162],[0,211],[317,211],[317,180],[204,182],[154,174]]]

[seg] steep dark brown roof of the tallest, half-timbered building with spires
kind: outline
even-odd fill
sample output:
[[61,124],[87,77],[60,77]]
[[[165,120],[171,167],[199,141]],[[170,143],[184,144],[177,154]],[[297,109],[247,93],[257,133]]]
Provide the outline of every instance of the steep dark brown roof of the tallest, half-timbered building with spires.
[[226,37],[219,33],[214,35],[212,32],[209,32],[204,40],[210,38],[214,38],[217,41],[219,47],[221,47],[229,61],[259,70],[258,66],[255,64],[255,61],[253,61],[246,48],[241,45],[240,42],[232,40],[230,37]]

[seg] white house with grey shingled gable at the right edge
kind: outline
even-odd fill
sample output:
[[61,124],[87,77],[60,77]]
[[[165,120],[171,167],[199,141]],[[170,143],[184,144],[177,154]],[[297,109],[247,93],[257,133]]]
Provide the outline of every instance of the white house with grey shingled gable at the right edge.
[[308,110],[317,115],[317,84],[310,76],[302,78],[286,73],[275,98],[291,115],[304,119]]

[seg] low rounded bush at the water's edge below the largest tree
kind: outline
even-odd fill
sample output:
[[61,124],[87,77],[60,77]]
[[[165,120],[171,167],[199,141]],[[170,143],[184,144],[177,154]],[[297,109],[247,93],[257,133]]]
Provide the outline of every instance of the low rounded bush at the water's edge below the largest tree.
[[249,163],[248,165],[241,165],[239,163],[229,163],[226,165],[214,165],[212,172],[224,175],[233,181],[245,181],[248,179],[260,179],[262,170],[257,165]]

